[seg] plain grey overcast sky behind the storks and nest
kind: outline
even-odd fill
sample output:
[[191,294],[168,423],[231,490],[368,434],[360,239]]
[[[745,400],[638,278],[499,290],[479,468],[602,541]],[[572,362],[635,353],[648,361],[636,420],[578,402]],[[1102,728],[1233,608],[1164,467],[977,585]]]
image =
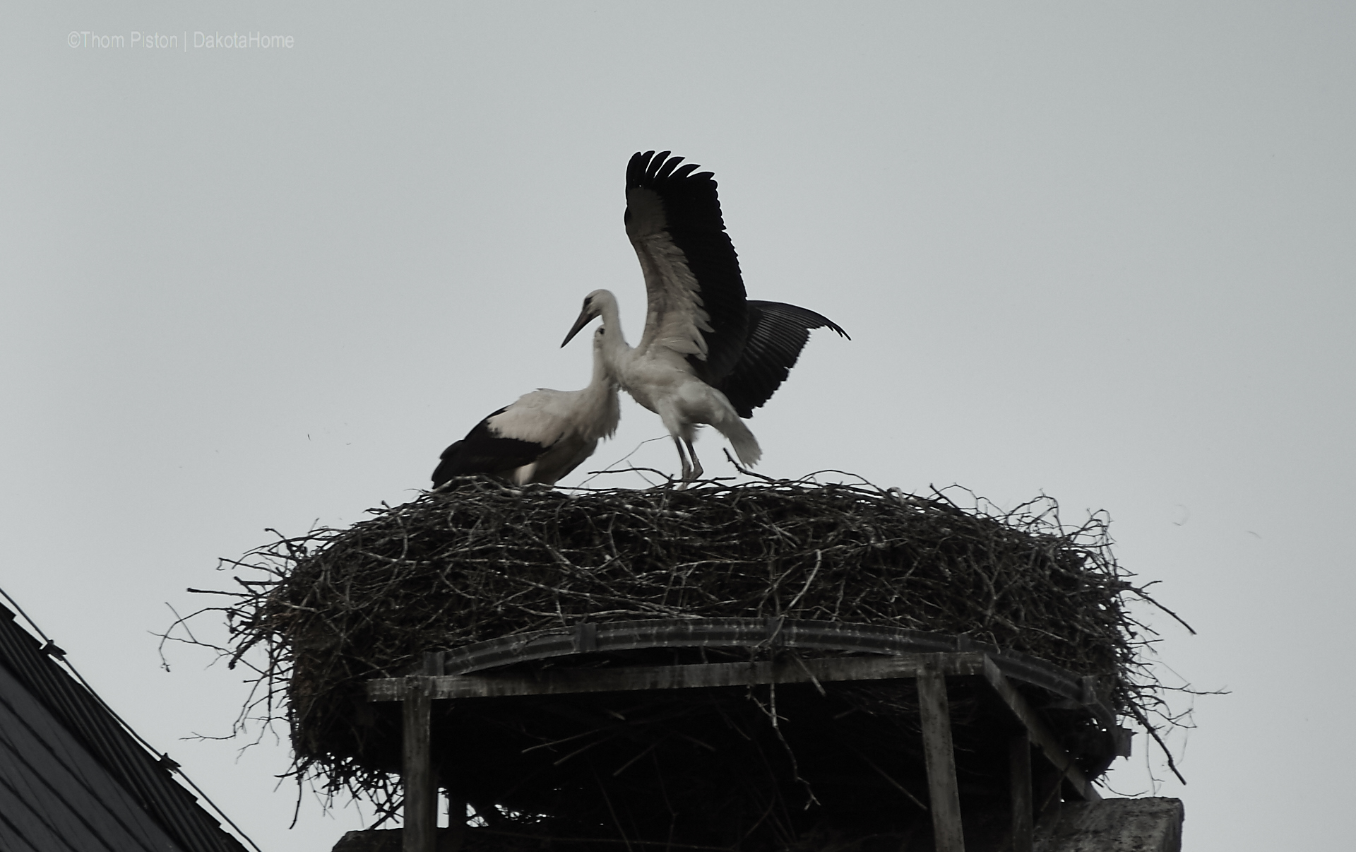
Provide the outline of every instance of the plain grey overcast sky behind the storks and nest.
[[[264,849],[362,818],[289,830],[283,745],[184,739],[244,688],[160,667],[167,602],[583,385],[589,290],[635,339],[651,148],[716,172],[753,297],[853,335],[751,421],[763,473],[1108,510],[1200,631],[1151,616],[1165,676],[1231,691],[1189,787],[1142,737],[1112,787],[1195,852],[1351,843],[1356,5],[45,3],[0,43],[0,586]],[[660,434],[628,402],[584,469]]]

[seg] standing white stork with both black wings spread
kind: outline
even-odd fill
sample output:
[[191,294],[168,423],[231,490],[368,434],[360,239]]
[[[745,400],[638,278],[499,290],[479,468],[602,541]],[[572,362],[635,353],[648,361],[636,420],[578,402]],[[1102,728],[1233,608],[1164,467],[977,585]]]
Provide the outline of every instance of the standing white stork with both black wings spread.
[[811,328],[848,332],[805,308],[750,301],[713,175],[669,153],[636,153],[626,166],[626,236],[650,296],[640,345],[626,343],[616,296],[594,290],[561,346],[602,317],[609,372],[663,421],[690,482],[702,473],[692,446],[697,426],[715,426],[739,461],[755,464],[762,450],[740,418],[786,380]]

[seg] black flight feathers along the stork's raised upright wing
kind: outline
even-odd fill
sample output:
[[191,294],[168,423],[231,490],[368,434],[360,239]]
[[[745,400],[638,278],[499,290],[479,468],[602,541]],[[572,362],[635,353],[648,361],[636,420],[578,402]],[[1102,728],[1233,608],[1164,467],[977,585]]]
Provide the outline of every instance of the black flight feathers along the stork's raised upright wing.
[[[712,383],[739,361],[749,330],[744,279],[739,255],[725,233],[715,175],[697,172],[700,166],[667,151],[636,153],[626,166],[626,189],[643,187],[659,195],[664,205],[664,225],[687,259],[687,269],[701,288],[701,303],[711,320],[706,358],[687,355],[697,376]],[[696,174],[694,174],[696,172]]]

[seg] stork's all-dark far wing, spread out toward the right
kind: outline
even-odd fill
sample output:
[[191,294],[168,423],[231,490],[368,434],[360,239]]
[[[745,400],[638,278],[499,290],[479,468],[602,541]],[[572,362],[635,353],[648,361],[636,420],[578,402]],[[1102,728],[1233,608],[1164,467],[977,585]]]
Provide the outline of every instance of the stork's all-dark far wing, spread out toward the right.
[[725,395],[739,417],[753,417],[754,408],[786,381],[810,339],[810,330],[826,327],[848,336],[838,323],[814,311],[780,301],[750,301],[749,336],[739,361],[715,383],[716,389]]

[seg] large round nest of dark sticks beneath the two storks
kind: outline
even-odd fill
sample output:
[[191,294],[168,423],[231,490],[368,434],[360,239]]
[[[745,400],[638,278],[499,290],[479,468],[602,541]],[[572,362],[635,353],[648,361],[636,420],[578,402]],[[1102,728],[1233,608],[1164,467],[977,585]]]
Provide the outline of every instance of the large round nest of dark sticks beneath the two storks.
[[[964,507],[953,502],[957,494],[964,495]],[[1105,517],[1066,526],[1048,498],[998,511],[959,490],[917,497],[812,480],[563,491],[472,479],[447,492],[372,510],[372,516],[348,529],[281,539],[235,562],[263,575],[237,578],[245,592],[226,613],[232,665],[244,661],[256,667],[262,691],[254,697],[255,708],[266,707],[266,716],[285,718],[290,724],[298,776],[317,779],[331,791],[347,788],[384,813],[399,802],[391,776],[399,769],[399,716],[388,712],[396,710],[392,705],[363,700],[365,681],[404,674],[428,650],[582,620],[784,616],[968,634],[1094,676],[1116,712],[1146,726],[1162,705],[1142,658],[1146,631],[1128,611],[1143,593],[1116,564]],[[700,765],[705,773],[705,780],[693,781],[693,790],[711,787],[713,773],[738,771],[713,762],[738,742],[754,742],[751,748],[762,756],[759,772],[770,779],[759,781],[763,787],[743,802],[717,784],[712,795],[719,802],[687,802],[683,810],[724,813],[747,806],[724,828],[706,826],[700,833],[702,843],[743,841],[744,848],[753,848],[747,844],[755,829],[770,830],[767,826],[776,829],[778,843],[788,843],[803,833],[792,825],[795,814],[827,805],[826,794],[816,794],[805,771],[815,756],[803,753],[797,762],[793,737],[786,734],[791,711],[785,708],[804,699],[788,693],[778,715],[767,708],[776,693],[754,692],[738,696],[754,708],[753,716],[740,716],[743,711],[730,701],[705,696],[697,703],[704,703],[706,722],[693,722],[701,715],[693,711],[681,730],[673,720],[681,715],[674,711],[675,699],[664,696],[643,711],[647,718],[662,718],[648,738],[637,739],[632,726],[612,746],[590,753],[594,762],[587,764],[587,772],[593,776],[582,786],[587,790],[561,775],[575,746],[552,742],[553,737],[574,738],[570,731],[575,729],[534,729],[523,719],[509,720],[513,714],[502,705],[476,718],[462,708],[460,730],[479,734],[445,738],[443,750],[454,754],[449,760],[462,769],[447,776],[465,777],[469,765],[484,784],[498,784],[483,794],[495,805],[477,807],[491,822],[514,814],[549,821],[552,814],[570,813],[576,836],[598,834],[598,825],[607,822],[625,837],[617,817],[625,788],[602,781],[595,787],[593,779],[614,777],[613,769],[622,764],[631,771],[637,760],[632,754],[644,753],[640,765],[654,762],[652,772],[667,784],[666,796],[687,795],[692,791],[679,790],[681,771],[673,762],[667,769],[660,767],[660,756],[670,749],[658,748],[660,742],[686,738],[704,746],[689,746],[693,753],[679,761],[693,772]],[[860,711],[869,723],[858,729],[872,731],[877,741],[883,720],[915,700],[907,689],[884,688],[843,686],[834,696],[848,708],[834,718]],[[965,700],[960,695],[953,712],[963,715]],[[624,715],[602,704],[576,704],[574,723],[589,714],[602,720],[609,714]],[[636,708],[640,704],[644,701]],[[656,707],[663,712],[656,715]],[[636,708],[628,712],[641,712]],[[758,719],[762,733],[754,730]],[[780,726],[778,719],[784,722]],[[915,722],[890,724],[907,731]],[[724,742],[728,737],[715,733],[713,726],[738,735]],[[509,727],[513,731],[506,733]],[[818,742],[820,734],[807,742]],[[711,745],[715,741],[721,741],[719,748]],[[960,745],[957,741],[957,752]],[[876,749],[869,742],[845,742],[838,752],[854,749],[869,765],[858,768],[860,773],[876,779],[876,787],[890,795],[899,795],[891,792],[891,784],[910,787],[903,776],[881,781],[885,773],[877,764],[885,756],[876,750],[879,742]],[[511,776],[495,777],[495,767],[506,760],[525,761],[527,752],[545,762],[529,761]],[[614,762],[599,775],[599,760]],[[575,764],[583,765],[579,760]],[[533,787],[522,781],[525,772],[546,780]],[[637,783],[631,780],[632,787]],[[800,792],[792,795],[786,784]],[[580,790],[570,794],[576,787]],[[917,790],[925,798],[926,786],[919,783]],[[476,802],[475,790],[464,792]],[[658,798],[654,790],[647,795]],[[589,796],[598,809],[605,800],[606,811],[590,811],[583,805]],[[861,796],[856,791],[849,798]],[[796,800],[788,802],[791,798]],[[743,805],[731,805],[735,800]],[[884,810],[898,811],[898,803]],[[552,830],[565,832],[559,825]]]

